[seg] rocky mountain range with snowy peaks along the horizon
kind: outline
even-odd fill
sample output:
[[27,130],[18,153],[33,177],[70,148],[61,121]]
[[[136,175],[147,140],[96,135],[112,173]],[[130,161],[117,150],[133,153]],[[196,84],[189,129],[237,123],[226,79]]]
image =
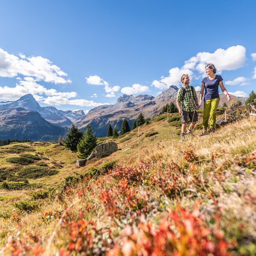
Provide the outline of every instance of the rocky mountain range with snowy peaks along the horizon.
[[[74,123],[86,130],[90,123],[97,137],[106,136],[108,125],[120,130],[123,119],[131,127],[134,120],[143,113],[145,118],[157,116],[164,105],[175,102],[178,87],[171,85],[158,96],[123,94],[112,105],[101,105],[91,109],[86,115],[82,110],[58,110],[55,107],[41,107],[32,94],[26,94],[17,101],[0,102],[0,140],[30,139],[53,141],[66,134],[67,127]],[[197,92],[199,98],[199,92]],[[221,106],[228,103],[224,94],[220,95]],[[231,95],[244,103],[246,98]],[[65,129],[66,127],[66,129]],[[27,137],[28,136],[28,137]]]

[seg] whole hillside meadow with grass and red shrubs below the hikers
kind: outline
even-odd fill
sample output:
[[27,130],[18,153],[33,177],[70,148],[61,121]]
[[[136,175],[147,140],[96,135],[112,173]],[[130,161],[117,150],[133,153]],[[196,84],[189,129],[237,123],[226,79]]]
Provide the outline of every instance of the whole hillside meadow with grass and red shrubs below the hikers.
[[183,143],[163,114],[80,168],[56,143],[0,147],[0,253],[255,255],[256,118],[198,137],[201,116]]

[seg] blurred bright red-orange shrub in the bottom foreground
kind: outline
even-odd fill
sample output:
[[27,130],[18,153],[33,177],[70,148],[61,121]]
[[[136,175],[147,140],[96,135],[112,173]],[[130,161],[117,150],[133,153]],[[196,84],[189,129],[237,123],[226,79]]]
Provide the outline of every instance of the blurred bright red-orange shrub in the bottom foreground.
[[197,209],[190,213],[177,207],[155,227],[142,217],[132,232],[130,226],[123,230],[120,245],[115,245],[107,256],[230,256],[229,244],[219,230],[210,230]]

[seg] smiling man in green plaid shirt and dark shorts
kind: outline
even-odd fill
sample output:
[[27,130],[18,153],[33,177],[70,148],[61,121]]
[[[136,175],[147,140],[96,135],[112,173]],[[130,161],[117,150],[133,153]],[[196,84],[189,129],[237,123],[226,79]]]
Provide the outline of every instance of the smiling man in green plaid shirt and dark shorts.
[[193,86],[189,86],[189,76],[184,74],[181,76],[180,81],[182,87],[178,89],[176,104],[181,114],[181,142],[184,141],[186,135],[187,119],[190,119],[190,126],[187,130],[187,134],[193,136],[192,130],[197,122],[197,111],[199,109],[197,93]]

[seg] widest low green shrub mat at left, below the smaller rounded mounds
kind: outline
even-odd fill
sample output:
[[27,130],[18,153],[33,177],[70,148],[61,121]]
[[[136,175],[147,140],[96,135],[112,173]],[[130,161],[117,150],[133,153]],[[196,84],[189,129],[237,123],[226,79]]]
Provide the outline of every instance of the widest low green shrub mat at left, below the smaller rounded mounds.
[[20,171],[18,171],[18,177],[20,178],[29,178],[29,179],[37,179],[44,176],[51,176],[57,174],[58,171],[52,170],[42,166],[28,166]]

